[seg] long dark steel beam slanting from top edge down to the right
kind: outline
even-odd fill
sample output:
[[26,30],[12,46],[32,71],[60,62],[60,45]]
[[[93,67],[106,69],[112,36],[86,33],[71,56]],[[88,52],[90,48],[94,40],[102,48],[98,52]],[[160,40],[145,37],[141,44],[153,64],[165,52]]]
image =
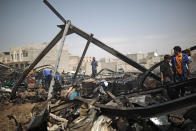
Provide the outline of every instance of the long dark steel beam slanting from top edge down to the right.
[[[60,15],[60,13],[47,1],[47,0],[44,0],[43,1],[51,10],[52,12],[58,17],[61,19],[61,21],[66,24],[66,20],[62,17],[62,15]],[[65,26],[61,26],[61,27],[65,27]],[[78,34],[79,36],[83,37],[84,39],[88,40],[90,39],[91,35],[86,33],[85,31],[77,28],[76,26],[74,26],[73,24],[70,25],[70,29],[71,31],[73,31],[73,33],[76,33]],[[142,72],[145,72],[147,71],[147,69],[144,67],[144,66],[141,66],[140,64],[138,64],[137,62],[131,60],[130,58],[128,58],[127,56],[121,54],[120,52],[116,51],[115,49],[107,46],[106,44],[104,44],[103,42],[101,42],[100,40],[92,37],[92,43],[94,43],[96,46],[102,48],[103,50],[109,52],[110,54],[116,56],[117,58],[121,59],[122,61],[126,62],[127,64],[135,67],[136,69],[142,71]],[[154,79],[156,80],[159,80],[160,81],[160,77],[155,75],[155,74],[152,74],[150,73],[150,76],[153,77]]]

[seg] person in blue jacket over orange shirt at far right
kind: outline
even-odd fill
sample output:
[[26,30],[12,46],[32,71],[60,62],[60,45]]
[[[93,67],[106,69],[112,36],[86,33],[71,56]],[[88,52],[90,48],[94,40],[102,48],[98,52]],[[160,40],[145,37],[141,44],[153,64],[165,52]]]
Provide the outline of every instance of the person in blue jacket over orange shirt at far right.
[[[172,58],[172,67],[174,71],[175,81],[182,82],[187,80],[188,75],[191,74],[190,68],[190,60],[188,56],[181,52],[180,46],[175,46],[174,48],[174,56]],[[184,96],[185,88],[180,88],[181,96]]]

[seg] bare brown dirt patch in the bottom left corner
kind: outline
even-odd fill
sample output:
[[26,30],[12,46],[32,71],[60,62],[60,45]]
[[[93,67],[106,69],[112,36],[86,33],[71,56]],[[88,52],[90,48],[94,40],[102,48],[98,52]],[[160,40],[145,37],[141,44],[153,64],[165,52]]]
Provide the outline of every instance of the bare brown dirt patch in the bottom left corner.
[[17,126],[13,119],[9,120],[7,115],[13,115],[16,120],[22,123],[23,129],[27,127],[27,124],[31,120],[31,109],[35,104],[0,104],[0,130],[1,131],[15,131]]

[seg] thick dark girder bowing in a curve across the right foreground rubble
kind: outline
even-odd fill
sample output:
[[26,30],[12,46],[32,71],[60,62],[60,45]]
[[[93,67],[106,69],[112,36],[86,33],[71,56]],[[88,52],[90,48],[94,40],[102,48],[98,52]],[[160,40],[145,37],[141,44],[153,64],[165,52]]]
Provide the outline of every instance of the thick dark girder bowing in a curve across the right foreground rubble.
[[116,116],[124,116],[127,118],[134,117],[154,117],[163,114],[169,114],[171,112],[187,108],[189,106],[196,105],[196,93],[190,96],[182,97],[172,101],[168,101],[161,104],[155,104],[147,107],[127,108],[119,106],[105,106],[103,104],[95,104],[99,107],[103,114],[110,114]]

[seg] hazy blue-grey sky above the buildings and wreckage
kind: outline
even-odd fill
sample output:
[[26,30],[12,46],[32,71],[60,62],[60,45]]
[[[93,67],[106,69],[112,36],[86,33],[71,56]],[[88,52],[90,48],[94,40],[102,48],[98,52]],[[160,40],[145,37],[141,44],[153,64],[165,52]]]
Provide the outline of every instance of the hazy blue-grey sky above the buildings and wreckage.
[[[123,54],[170,53],[196,45],[196,0],[49,0],[72,24]],[[0,0],[0,51],[50,42],[62,22],[42,0]],[[70,53],[81,55],[86,40],[70,35]],[[91,44],[87,56],[109,57]]]

